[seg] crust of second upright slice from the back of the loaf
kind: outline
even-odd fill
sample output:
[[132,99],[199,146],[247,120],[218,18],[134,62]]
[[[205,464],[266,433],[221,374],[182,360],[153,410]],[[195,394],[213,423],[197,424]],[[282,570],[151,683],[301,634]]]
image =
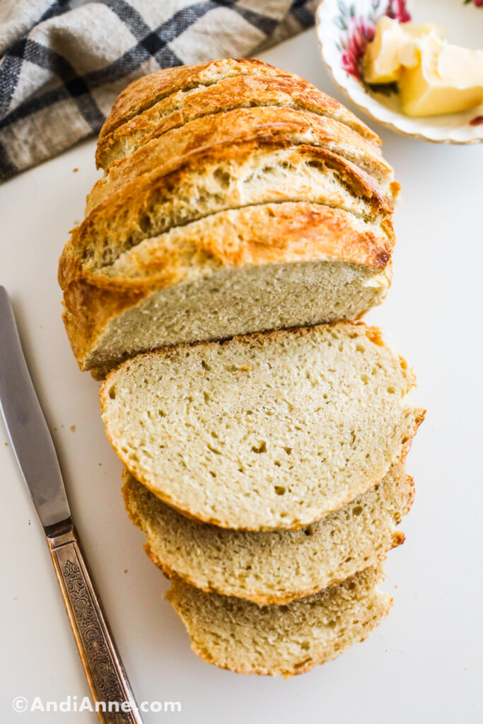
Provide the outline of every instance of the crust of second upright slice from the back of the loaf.
[[188,95],[183,90],[173,93],[111,132],[101,135],[96,151],[98,167],[108,168],[112,161],[129,155],[139,145],[159,138],[165,132],[193,119],[252,106],[272,106],[279,110],[285,106],[311,111],[322,117],[334,117],[347,130],[353,130],[366,139],[374,151],[378,150],[380,140],[375,133],[306,80],[287,74],[268,78],[238,75],[224,78]]

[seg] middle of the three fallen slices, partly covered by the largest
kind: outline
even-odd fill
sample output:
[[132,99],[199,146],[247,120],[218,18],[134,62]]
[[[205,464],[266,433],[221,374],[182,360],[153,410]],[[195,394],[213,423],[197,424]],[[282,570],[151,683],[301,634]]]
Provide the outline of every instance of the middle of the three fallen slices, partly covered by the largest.
[[207,593],[283,604],[343,581],[383,560],[404,541],[396,531],[413,502],[403,465],[322,521],[298,531],[230,531],[196,523],[148,491],[125,469],[124,495],[146,552],[168,577]]

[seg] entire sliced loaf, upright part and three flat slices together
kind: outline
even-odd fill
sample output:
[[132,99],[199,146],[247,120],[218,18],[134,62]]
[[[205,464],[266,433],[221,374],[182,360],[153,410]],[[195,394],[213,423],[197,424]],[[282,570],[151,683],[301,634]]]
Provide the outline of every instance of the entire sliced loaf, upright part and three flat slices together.
[[161,70],[117,98],[59,262],[127,511],[222,668],[303,673],[390,609],[380,566],[424,411],[406,361],[354,321],[391,281],[399,185],[379,146],[259,60]]

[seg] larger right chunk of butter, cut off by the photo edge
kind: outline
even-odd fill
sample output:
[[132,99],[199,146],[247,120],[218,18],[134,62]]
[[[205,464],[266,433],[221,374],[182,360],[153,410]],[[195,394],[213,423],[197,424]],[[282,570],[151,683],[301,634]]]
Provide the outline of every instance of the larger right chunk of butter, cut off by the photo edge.
[[403,67],[400,102],[408,116],[456,113],[483,103],[483,51],[428,35],[418,42],[420,62]]

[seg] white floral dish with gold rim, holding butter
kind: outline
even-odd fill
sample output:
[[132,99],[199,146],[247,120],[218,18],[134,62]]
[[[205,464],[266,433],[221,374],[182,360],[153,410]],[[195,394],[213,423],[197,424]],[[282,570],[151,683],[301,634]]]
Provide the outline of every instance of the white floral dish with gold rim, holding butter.
[[360,64],[374,26],[383,15],[400,22],[437,22],[450,43],[483,48],[483,0],[323,0],[317,9],[322,59],[337,86],[371,118],[404,135],[434,143],[483,141],[483,106],[443,116],[410,118],[400,111],[398,94],[369,88]]

